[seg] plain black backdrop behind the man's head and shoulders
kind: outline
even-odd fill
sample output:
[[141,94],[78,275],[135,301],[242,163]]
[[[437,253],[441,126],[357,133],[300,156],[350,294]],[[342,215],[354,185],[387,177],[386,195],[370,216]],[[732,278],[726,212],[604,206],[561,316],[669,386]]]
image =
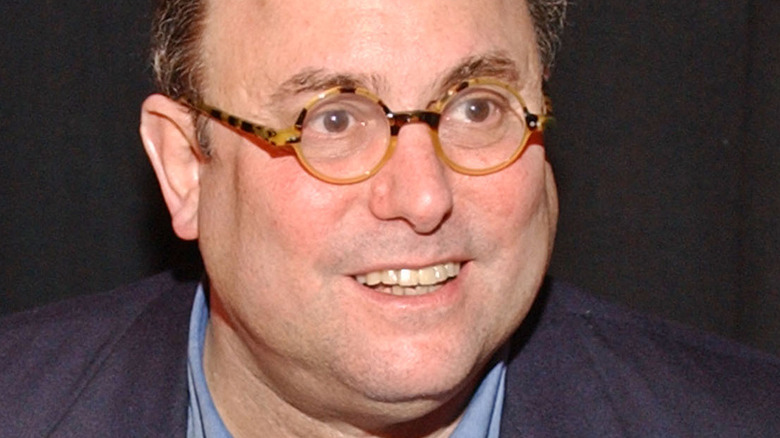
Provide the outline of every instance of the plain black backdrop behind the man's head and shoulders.
[[[177,267],[137,134],[151,0],[4,1],[0,312]],[[580,0],[552,274],[780,352],[780,1]]]

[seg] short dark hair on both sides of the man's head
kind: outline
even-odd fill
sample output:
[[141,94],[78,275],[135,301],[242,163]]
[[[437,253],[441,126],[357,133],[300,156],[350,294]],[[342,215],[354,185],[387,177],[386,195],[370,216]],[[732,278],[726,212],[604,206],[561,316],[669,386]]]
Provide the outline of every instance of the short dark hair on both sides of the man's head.
[[[552,67],[568,0],[527,0],[539,55]],[[172,98],[198,100],[203,65],[200,35],[207,0],[159,0],[152,27],[152,67],[157,89]]]

